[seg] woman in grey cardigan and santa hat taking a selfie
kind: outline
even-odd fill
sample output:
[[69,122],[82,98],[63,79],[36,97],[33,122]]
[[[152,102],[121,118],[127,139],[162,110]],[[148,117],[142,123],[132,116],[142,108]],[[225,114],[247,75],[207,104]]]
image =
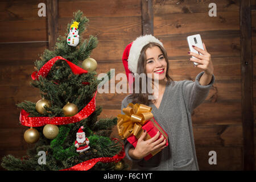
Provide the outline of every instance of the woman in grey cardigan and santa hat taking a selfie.
[[[130,43],[123,53],[129,84],[134,79],[129,73],[151,73],[153,84],[158,79],[158,97],[148,100],[150,93],[132,93],[122,101],[122,108],[130,102],[152,107],[155,120],[166,131],[168,141],[159,138],[159,133],[144,140],[146,131],[138,139],[134,148],[125,140],[126,156],[133,161],[134,170],[199,170],[193,139],[191,113],[207,97],[214,82],[213,64],[210,54],[204,49],[194,47],[200,52],[188,52],[190,61],[199,63],[196,67],[204,71],[196,76],[195,82],[172,81],[168,75],[168,57],[163,44],[152,35],[140,36]],[[156,77],[158,76],[158,77]],[[142,88],[140,88],[141,90]],[[122,114],[123,111],[122,111]],[[159,139],[158,139],[159,138]],[[166,146],[168,142],[168,146]],[[161,150],[149,160],[144,160],[152,151]]]

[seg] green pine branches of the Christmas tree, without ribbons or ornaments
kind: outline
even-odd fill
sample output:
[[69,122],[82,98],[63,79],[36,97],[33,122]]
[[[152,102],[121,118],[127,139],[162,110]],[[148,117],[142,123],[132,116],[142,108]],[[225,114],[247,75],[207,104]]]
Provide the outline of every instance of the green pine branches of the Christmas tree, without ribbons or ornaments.
[[[59,36],[55,48],[53,50],[45,49],[40,55],[40,60],[35,61],[36,71],[39,71],[48,60],[55,56],[62,56],[78,65],[79,61],[88,58],[92,50],[96,48],[98,44],[96,37],[90,35],[88,39],[82,38],[86,27],[89,25],[89,19],[83,15],[82,11],[77,11],[73,16],[71,23],[67,25],[67,34]],[[80,43],[77,47],[72,47],[67,44],[67,35],[69,27],[75,21],[80,22]],[[35,109],[36,103],[31,101],[21,102],[17,106],[30,113],[30,117],[64,117],[63,107],[67,102],[76,104],[81,111],[92,100],[98,85],[104,84],[104,81],[113,77],[110,71],[107,73],[107,77],[108,79],[97,80],[95,71],[74,75],[64,60],[58,60],[47,77],[40,76],[39,80],[31,82],[31,86],[38,88],[41,96],[51,102],[50,107],[45,107],[46,112],[39,114]],[[89,85],[84,85],[84,82],[89,82]],[[35,146],[27,151],[27,156],[18,159],[12,155],[7,155],[2,158],[1,166],[8,170],[60,170],[75,166],[85,160],[111,157],[118,154],[122,149],[121,144],[109,138],[113,126],[117,123],[117,118],[97,119],[101,111],[102,107],[97,106],[88,118],[77,123],[60,125],[59,134],[53,140],[43,136],[43,126],[36,127],[40,133],[40,138]],[[86,137],[90,141],[90,149],[86,155],[80,155],[76,152],[74,145],[76,133],[81,126],[84,126]],[[39,151],[47,152],[46,164],[38,164]],[[91,170],[113,170],[114,165],[115,163],[97,163]]]

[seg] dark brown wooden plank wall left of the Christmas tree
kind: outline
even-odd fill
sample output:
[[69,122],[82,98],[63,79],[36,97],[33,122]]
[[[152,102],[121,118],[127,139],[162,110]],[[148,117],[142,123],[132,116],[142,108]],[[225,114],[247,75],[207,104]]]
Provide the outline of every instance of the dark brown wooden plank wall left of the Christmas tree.
[[[46,18],[38,16],[38,4],[45,1],[1,1],[0,40],[0,155],[26,155],[23,139],[26,127],[19,124],[16,104],[36,101],[40,95],[30,86],[34,61],[47,48]],[[1,168],[2,169],[2,168]]]

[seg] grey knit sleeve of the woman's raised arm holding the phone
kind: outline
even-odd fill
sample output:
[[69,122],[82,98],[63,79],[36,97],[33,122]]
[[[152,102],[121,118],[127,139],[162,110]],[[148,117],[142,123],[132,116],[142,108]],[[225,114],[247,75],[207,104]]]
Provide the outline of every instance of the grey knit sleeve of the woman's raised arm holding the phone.
[[183,96],[185,103],[190,112],[192,112],[197,106],[199,106],[209,94],[209,90],[212,87],[215,77],[212,76],[212,80],[208,85],[200,85],[200,78],[204,72],[199,73],[196,76],[195,81],[184,81],[183,83]]

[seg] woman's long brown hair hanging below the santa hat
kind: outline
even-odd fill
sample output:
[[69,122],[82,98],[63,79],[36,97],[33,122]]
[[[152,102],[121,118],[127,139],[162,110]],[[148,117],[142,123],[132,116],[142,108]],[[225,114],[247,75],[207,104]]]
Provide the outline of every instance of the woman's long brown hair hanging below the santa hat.
[[[137,66],[137,73],[138,75],[141,75],[141,73],[146,74],[146,50],[147,48],[152,48],[154,46],[158,46],[160,50],[163,53],[164,59],[166,59],[167,62],[167,69],[166,69],[166,78],[167,78],[167,85],[171,84],[173,82],[172,78],[170,77],[168,71],[169,71],[169,63],[168,63],[168,56],[166,50],[158,43],[148,43],[146,46],[144,46],[141,50],[141,55],[139,56],[138,60],[138,66]],[[147,80],[147,79],[146,79]],[[147,83],[148,84],[148,83]],[[148,100],[148,96],[152,94],[146,92],[142,93],[142,78],[139,77],[139,93],[135,93],[135,82],[133,82],[133,93],[130,94],[128,98],[131,98],[133,104],[144,104],[149,105],[150,103],[154,103],[155,100]]]

